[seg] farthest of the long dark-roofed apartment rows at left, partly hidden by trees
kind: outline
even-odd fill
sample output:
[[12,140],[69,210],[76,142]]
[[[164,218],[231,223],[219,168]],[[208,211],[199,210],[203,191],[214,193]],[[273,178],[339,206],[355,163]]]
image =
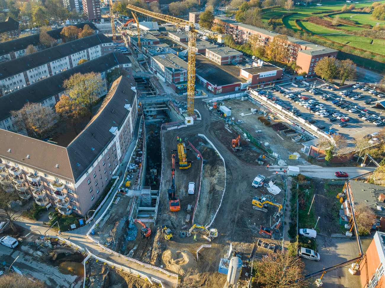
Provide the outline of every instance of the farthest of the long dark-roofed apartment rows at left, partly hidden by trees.
[[[74,26],[77,28],[83,28],[84,25],[89,25],[91,29],[94,30],[95,33],[99,32],[95,27],[94,23],[92,22],[79,23]],[[62,44],[63,42],[65,42],[63,41],[64,39],[62,38],[63,35],[60,34],[62,30],[63,30],[63,27],[59,29],[47,31],[47,34],[56,40],[56,44]],[[22,38],[0,43],[0,62],[6,61],[7,59],[12,60],[12,59],[24,56],[25,49],[28,47],[28,45],[33,45],[35,49],[41,50],[39,37],[40,37],[40,33],[36,33],[27,37],[22,37]]]

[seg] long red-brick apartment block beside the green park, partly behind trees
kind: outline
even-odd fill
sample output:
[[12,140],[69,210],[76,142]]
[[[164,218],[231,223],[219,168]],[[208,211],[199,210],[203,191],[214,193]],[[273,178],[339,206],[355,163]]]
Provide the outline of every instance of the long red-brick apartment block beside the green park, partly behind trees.
[[[263,28],[239,23],[224,17],[215,17],[215,21],[225,29],[226,34],[233,35],[237,44],[249,42],[254,45],[268,45],[269,42],[273,41],[276,35],[279,35],[278,33]],[[335,58],[338,53],[338,50],[316,45],[290,36],[288,36],[288,42],[285,49],[287,49],[290,54],[290,59],[287,60],[296,61],[296,63],[302,67],[299,72],[306,72],[308,75],[314,76],[314,66],[318,60],[323,59],[324,57]]]

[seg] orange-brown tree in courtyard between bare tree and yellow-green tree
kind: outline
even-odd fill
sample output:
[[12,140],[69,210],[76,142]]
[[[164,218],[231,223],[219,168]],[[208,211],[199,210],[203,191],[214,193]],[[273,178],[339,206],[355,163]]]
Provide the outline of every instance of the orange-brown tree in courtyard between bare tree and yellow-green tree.
[[83,117],[90,112],[78,104],[76,101],[70,99],[67,95],[62,95],[60,101],[55,105],[56,112],[62,117],[67,125],[72,127],[77,134],[77,124],[82,122]]

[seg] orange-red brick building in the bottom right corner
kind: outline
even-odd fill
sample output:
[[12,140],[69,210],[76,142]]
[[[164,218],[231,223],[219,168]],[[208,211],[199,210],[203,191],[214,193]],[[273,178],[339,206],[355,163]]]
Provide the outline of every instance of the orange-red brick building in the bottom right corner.
[[377,231],[360,262],[362,288],[385,287],[385,233]]

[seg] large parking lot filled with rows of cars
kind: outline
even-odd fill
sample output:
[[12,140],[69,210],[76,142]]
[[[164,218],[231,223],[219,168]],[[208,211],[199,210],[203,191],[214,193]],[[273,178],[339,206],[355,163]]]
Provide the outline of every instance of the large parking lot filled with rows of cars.
[[[282,89],[279,90],[279,87]],[[265,89],[262,93],[276,104],[286,107],[286,110],[299,113],[297,116],[326,133],[343,134],[348,140],[352,140],[358,136],[363,137],[378,132],[385,124],[383,109],[371,107],[368,102],[381,98],[369,94],[369,90],[362,91],[350,87],[345,90],[332,91],[326,86],[316,89],[310,87],[298,89],[290,84],[279,87],[276,87],[275,90]],[[343,91],[346,91],[345,94],[340,95],[340,92]],[[308,107],[306,108],[306,106]],[[321,114],[323,111],[325,114]]]

